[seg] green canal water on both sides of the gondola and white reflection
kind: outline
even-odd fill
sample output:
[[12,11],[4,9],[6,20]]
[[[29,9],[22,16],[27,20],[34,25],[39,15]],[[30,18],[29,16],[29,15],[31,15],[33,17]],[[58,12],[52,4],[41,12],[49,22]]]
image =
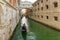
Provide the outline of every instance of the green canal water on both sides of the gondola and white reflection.
[[[32,19],[28,19],[29,33],[33,34],[35,40],[60,40],[60,32],[46,25],[38,23]],[[29,35],[28,35],[29,36]],[[21,35],[21,22],[18,23],[11,40],[23,40]]]

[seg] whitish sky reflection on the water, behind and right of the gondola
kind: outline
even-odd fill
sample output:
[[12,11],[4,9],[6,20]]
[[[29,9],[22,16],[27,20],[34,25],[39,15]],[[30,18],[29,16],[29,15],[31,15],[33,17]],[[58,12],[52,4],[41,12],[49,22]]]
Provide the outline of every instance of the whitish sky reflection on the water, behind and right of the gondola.
[[[21,19],[21,27],[22,27],[24,24],[25,24],[26,29],[27,29],[27,35],[25,34],[25,36],[27,36],[27,37],[25,37],[26,40],[36,40],[35,34],[29,30],[29,22],[28,22],[28,18],[26,18],[26,17],[23,17],[23,18]],[[22,28],[21,28],[21,29],[22,29]],[[24,35],[24,34],[23,34],[23,35]],[[25,38],[23,38],[23,39],[25,39]]]

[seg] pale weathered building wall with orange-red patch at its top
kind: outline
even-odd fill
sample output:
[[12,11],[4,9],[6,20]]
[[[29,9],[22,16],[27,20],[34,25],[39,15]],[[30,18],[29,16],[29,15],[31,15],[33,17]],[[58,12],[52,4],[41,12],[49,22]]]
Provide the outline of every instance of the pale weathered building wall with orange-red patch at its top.
[[9,40],[18,22],[18,0],[0,0],[0,40]]

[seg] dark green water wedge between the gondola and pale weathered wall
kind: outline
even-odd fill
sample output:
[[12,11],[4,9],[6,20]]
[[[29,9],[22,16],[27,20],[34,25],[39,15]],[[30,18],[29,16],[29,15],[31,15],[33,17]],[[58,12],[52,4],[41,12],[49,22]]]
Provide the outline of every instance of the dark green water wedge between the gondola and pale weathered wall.
[[23,40],[20,30],[20,22],[17,24],[16,29],[13,32],[13,35],[10,40]]

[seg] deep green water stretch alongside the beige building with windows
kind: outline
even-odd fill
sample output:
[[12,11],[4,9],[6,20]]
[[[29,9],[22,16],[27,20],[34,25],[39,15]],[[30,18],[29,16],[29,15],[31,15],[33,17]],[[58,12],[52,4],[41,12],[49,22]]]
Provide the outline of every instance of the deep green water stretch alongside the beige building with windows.
[[60,32],[41,23],[29,19],[30,30],[35,33],[37,40],[60,40]]

